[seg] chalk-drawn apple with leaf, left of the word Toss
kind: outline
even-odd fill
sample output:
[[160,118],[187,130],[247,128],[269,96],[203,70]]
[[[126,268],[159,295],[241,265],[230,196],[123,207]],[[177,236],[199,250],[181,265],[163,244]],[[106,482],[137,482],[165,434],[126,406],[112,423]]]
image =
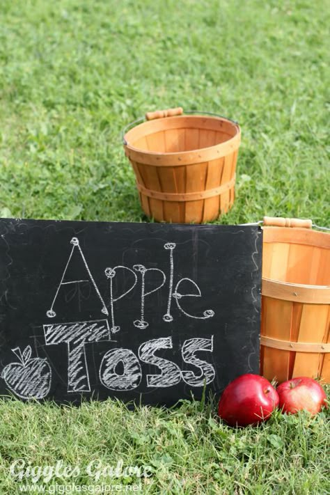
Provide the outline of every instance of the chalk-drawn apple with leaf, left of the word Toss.
[[1,377],[6,386],[21,399],[43,399],[49,393],[52,383],[52,368],[47,359],[31,359],[32,349],[28,345],[21,352],[19,347],[12,349],[19,363],[9,363],[2,370]]

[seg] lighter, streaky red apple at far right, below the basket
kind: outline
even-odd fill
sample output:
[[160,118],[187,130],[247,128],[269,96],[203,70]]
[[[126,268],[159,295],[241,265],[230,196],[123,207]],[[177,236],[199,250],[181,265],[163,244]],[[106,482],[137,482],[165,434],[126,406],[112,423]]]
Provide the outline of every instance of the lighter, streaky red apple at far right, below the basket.
[[327,406],[327,394],[313,378],[292,378],[278,385],[277,393],[280,399],[279,406],[288,414],[294,414],[302,409],[317,414],[322,406]]

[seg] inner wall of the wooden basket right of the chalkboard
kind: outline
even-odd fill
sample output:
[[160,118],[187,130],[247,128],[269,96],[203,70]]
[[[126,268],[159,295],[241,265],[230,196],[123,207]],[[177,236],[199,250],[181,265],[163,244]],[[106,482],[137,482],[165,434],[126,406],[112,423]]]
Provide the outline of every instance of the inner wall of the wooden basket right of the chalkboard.
[[330,285],[329,248],[288,242],[264,242],[262,251],[263,277],[286,283]]

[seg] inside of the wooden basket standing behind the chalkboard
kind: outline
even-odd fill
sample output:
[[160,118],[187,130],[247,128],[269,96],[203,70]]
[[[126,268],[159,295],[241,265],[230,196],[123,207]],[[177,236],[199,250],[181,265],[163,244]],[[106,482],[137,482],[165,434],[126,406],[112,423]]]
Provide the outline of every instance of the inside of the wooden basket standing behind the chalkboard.
[[228,120],[184,116],[143,123],[127,132],[125,139],[141,151],[173,153],[210,148],[237,132],[238,126]]

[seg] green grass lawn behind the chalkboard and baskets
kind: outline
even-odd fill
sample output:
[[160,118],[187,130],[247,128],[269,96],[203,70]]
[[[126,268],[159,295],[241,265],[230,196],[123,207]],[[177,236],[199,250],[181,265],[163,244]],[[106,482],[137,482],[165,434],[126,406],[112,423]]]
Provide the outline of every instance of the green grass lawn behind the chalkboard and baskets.
[[3,214],[145,220],[120,132],[181,104],[242,126],[237,199],[221,222],[329,226],[321,0],[2,0],[0,13]]

